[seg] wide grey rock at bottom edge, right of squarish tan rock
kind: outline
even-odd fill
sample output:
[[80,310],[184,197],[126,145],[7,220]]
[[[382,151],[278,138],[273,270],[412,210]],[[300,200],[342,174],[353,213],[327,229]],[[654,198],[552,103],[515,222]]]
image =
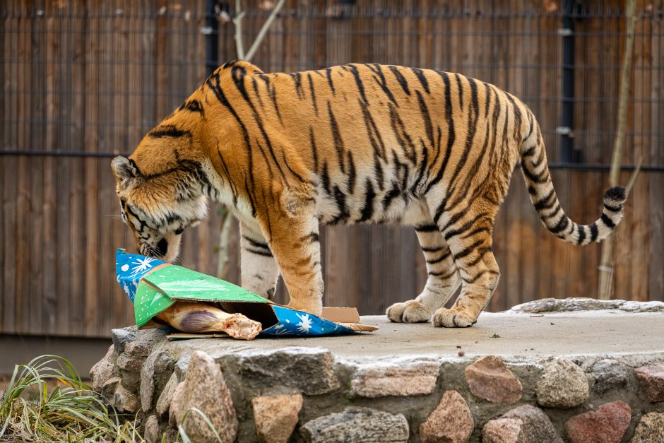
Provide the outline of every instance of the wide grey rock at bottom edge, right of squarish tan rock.
[[372,408],[348,407],[302,426],[302,436],[312,443],[408,442],[408,421],[403,414]]

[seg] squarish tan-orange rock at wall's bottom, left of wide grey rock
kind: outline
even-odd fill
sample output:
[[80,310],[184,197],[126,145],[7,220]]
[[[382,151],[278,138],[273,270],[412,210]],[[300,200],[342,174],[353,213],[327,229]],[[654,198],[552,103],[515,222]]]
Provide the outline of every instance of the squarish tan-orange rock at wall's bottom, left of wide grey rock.
[[297,425],[302,396],[261,396],[251,399],[256,435],[261,443],[285,443]]

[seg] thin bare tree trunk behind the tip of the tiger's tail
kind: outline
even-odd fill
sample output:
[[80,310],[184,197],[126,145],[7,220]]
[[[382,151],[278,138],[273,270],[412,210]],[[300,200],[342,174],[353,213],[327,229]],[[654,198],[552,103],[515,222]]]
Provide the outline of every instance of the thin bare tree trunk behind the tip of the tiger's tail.
[[[609,175],[610,186],[617,186],[620,178],[620,167],[622,166],[622,152],[624,148],[625,126],[627,124],[627,100],[629,100],[629,79],[632,73],[632,52],[634,48],[634,28],[636,25],[636,0],[628,0],[625,8],[627,16],[627,39],[625,40],[624,58],[622,60],[622,73],[620,74],[620,90],[618,98],[618,122],[613,143],[613,156],[611,160],[611,172]],[[636,171],[635,171],[636,172]],[[636,177],[636,175],[634,175]],[[602,257],[600,260],[600,279],[598,285],[598,298],[610,300],[613,295],[614,257],[613,244],[615,232],[607,237],[602,243]]]

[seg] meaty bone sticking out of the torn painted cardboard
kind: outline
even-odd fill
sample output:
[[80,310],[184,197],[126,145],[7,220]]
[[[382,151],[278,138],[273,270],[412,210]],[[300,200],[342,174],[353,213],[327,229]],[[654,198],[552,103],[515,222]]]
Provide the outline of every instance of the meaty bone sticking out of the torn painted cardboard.
[[157,318],[182,332],[225,332],[232,338],[251,340],[262,327],[259,321],[242,314],[229,314],[213,305],[199,302],[176,302]]

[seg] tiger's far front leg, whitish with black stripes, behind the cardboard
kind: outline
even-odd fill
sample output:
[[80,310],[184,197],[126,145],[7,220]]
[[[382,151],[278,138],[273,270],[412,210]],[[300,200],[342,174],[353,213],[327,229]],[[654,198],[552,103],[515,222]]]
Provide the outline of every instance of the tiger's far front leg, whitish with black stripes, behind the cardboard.
[[261,232],[239,224],[242,288],[272,300],[279,268]]

